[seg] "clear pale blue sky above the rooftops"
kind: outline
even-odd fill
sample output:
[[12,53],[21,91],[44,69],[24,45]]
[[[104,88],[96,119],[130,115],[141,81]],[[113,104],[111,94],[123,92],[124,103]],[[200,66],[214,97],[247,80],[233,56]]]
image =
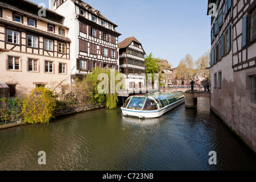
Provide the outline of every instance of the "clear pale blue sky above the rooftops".
[[[30,0],[37,4],[48,0]],[[144,51],[166,59],[173,67],[191,54],[199,59],[210,49],[210,16],[206,0],[84,0],[113,23],[122,34],[134,36]]]

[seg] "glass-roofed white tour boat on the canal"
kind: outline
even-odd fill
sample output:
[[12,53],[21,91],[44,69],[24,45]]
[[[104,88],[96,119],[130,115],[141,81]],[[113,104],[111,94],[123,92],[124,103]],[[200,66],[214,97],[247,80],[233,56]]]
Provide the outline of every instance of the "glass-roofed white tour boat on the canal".
[[185,102],[180,91],[131,96],[121,107],[122,114],[139,118],[158,118]]

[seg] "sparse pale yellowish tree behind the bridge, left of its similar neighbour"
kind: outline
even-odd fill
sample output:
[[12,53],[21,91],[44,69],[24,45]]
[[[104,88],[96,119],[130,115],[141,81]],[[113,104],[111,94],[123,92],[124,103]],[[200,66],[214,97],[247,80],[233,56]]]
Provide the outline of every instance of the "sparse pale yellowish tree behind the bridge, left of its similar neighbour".
[[193,61],[193,57],[187,54],[180,60],[179,67],[177,68],[177,76],[184,80],[192,81],[196,75],[194,67],[195,63]]

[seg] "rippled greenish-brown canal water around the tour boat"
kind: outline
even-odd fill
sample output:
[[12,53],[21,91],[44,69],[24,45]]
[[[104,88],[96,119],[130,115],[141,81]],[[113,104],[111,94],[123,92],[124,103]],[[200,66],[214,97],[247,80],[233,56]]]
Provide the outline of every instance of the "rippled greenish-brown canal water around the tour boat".
[[[256,155],[200,99],[160,118],[98,109],[0,130],[0,170],[256,170]],[[39,151],[46,165],[39,165]],[[209,152],[217,164],[209,164]]]

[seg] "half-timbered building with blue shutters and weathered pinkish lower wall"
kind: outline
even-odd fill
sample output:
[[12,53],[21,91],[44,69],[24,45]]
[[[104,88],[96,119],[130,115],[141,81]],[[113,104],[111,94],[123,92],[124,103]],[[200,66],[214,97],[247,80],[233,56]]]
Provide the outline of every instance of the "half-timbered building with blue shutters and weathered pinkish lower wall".
[[256,1],[208,1],[210,107],[256,151]]

